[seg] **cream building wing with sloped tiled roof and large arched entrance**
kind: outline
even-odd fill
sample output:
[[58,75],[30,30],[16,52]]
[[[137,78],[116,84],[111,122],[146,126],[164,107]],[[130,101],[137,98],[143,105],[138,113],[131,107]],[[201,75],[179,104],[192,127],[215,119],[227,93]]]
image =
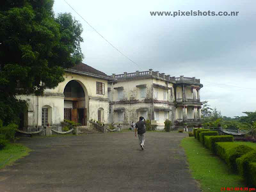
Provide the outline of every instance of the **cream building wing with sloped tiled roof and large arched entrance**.
[[37,131],[47,124],[61,129],[64,119],[89,126],[90,119],[108,124],[108,81],[112,77],[84,63],[65,70],[65,81],[54,89],[46,89],[43,96],[18,95],[26,100],[28,111],[21,116],[23,131]]

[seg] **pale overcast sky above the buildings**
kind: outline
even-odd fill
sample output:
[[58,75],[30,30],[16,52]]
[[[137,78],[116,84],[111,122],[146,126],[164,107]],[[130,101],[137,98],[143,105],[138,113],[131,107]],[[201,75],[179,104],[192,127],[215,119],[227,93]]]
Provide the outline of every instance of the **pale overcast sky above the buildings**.
[[[72,13],[83,25],[84,63],[111,75],[136,70],[196,77],[209,100],[225,116],[256,111],[256,1],[86,1],[64,0],[54,12]],[[236,17],[153,17],[152,11],[239,12]]]

